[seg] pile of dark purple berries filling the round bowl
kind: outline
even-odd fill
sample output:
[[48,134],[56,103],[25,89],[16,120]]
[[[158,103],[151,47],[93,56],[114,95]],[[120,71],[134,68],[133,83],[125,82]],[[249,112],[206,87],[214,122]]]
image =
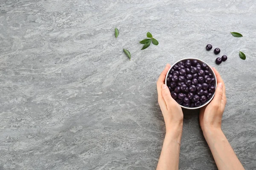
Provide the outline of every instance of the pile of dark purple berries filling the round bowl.
[[186,59],[172,66],[166,84],[178,104],[195,108],[212,98],[215,81],[206,63]]

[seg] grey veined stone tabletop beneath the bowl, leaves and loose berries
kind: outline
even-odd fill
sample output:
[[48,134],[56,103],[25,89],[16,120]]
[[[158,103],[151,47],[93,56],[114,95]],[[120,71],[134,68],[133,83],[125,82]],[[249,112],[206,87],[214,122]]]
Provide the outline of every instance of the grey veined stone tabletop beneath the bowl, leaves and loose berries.
[[[140,50],[147,31],[159,45]],[[208,43],[228,60],[215,65]],[[154,170],[156,80],[184,57],[220,72],[223,131],[255,170],[255,0],[0,0],[0,170]],[[184,111],[179,167],[217,169],[198,111]]]

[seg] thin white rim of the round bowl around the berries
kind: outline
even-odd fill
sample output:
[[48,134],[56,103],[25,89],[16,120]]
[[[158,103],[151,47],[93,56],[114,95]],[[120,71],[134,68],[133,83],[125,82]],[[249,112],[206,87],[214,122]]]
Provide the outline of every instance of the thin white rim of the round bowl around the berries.
[[[201,59],[197,59],[197,58],[184,58],[184,59],[180,59],[179,61],[175,62],[175,63],[172,65],[172,67],[173,67],[175,64],[177,64],[178,62],[183,61],[183,60],[186,60],[186,59],[189,59],[189,60],[194,60],[194,59],[196,59],[196,60],[198,60],[198,61],[201,62],[201,63],[205,63],[205,64],[208,66],[209,71],[212,73],[213,77],[214,77],[215,80],[216,80],[216,81],[215,81],[215,86],[214,86],[215,89],[216,89],[216,87],[217,87],[216,75],[215,75],[214,71],[212,70],[212,68],[211,68],[206,62],[202,61]],[[169,71],[172,69],[172,67],[168,70],[168,72],[167,72],[167,74],[166,74],[165,84],[166,84],[166,82],[167,82],[167,76],[168,76],[168,74],[169,74]],[[182,106],[182,105],[180,105],[180,107],[181,107],[181,108],[185,108],[185,109],[199,109],[199,108],[202,108],[202,107],[204,107],[205,105],[207,105],[209,102],[212,101],[214,95],[215,95],[215,92],[214,92],[214,94],[212,94],[212,98],[211,98],[211,99],[209,99],[207,102],[204,103],[204,105],[201,105],[201,106],[199,106],[199,107],[196,107],[196,108],[187,108],[187,107]]]

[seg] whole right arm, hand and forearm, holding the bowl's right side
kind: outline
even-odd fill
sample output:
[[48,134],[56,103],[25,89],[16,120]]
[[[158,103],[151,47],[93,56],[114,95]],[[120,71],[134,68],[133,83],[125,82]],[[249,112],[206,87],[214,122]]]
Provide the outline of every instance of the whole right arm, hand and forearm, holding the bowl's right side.
[[212,68],[217,78],[217,88],[212,101],[201,108],[199,121],[204,138],[209,145],[218,170],[244,170],[226,136],[221,130],[221,119],[227,102],[225,85],[220,74]]

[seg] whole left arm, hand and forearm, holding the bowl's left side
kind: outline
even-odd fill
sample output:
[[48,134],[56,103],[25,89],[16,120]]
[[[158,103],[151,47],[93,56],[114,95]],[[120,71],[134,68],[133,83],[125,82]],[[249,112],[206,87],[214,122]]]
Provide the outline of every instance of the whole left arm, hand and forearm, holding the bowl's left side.
[[183,113],[180,105],[172,99],[169,88],[164,84],[170,67],[171,65],[166,65],[157,81],[158,103],[166,124],[166,136],[157,164],[157,170],[178,170],[179,167]]

